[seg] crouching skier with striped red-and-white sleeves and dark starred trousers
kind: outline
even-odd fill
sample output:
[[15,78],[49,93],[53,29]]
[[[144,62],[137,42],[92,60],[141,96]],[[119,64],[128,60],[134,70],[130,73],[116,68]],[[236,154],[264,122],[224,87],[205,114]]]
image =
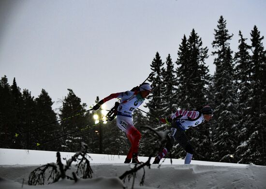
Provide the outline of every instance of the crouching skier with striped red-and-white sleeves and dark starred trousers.
[[163,123],[171,123],[171,132],[168,134],[171,140],[166,143],[166,147],[163,148],[163,151],[155,157],[153,164],[158,164],[160,160],[168,154],[175,143],[179,143],[186,150],[185,164],[190,164],[193,148],[189,138],[185,134],[185,130],[190,127],[198,126],[204,121],[209,121],[212,116],[213,109],[210,106],[205,106],[200,111],[177,110],[177,112],[172,114],[169,118],[160,119]]

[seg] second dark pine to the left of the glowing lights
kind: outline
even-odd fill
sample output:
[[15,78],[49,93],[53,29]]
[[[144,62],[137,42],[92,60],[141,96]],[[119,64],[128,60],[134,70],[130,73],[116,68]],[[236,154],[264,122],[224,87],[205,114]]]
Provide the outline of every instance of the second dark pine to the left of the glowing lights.
[[[42,126],[57,120],[56,113],[52,110],[52,98],[44,89],[42,89],[41,94],[35,98],[35,103],[37,126]],[[58,123],[42,127],[38,129],[39,138],[41,141],[51,140],[55,138],[55,136],[58,136],[59,131],[60,129]],[[48,151],[58,151],[60,149],[60,145],[57,142],[47,143],[41,147],[43,150]]]

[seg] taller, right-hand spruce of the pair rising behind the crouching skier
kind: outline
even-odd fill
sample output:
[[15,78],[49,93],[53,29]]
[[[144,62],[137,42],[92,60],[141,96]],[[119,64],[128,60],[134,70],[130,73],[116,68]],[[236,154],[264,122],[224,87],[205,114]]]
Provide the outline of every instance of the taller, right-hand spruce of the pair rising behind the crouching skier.
[[[189,86],[187,96],[191,107],[200,107],[207,104],[210,76],[205,60],[208,58],[207,47],[202,47],[202,40],[192,29],[188,39],[189,66],[191,76],[186,85]],[[189,106],[185,107],[189,110]],[[211,153],[209,125],[203,124],[188,130],[187,135],[191,136],[191,143],[194,147],[194,159],[207,160]],[[207,147],[208,146],[208,147]]]

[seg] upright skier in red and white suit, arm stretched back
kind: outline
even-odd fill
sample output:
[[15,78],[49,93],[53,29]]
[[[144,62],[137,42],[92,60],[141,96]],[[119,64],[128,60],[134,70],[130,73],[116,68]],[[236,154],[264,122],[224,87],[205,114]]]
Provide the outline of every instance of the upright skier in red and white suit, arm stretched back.
[[126,132],[131,142],[131,148],[124,163],[130,163],[131,160],[132,163],[140,163],[138,160],[138,147],[141,134],[133,125],[132,113],[133,110],[137,109],[144,102],[150,92],[150,85],[148,83],[142,83],[139,86],[139,90],[110,94],[93,107],[93,110],[98,110],[100,106],[108,100],[122,98],[117,109],[117,126]]

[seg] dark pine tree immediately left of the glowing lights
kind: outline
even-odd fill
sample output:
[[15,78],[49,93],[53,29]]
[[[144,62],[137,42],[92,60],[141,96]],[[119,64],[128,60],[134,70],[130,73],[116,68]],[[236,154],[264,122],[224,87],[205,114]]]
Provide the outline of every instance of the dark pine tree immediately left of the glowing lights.
[[[63,107],[60,110],[60,119],[69,117],[80,112],[85,111],[86,104],[81,104],[81,100],[77,97],[72,89],[68,89],[69,93],[64,98]],[[69,133],[86,126],[86,119],[84,114],[75,116],[71,119],[62,121],[61,123],[61,133]],[[75,132],[71,135],[61,138],[62,150],[73,152],[83,142],[83,137],[81,132]]]

